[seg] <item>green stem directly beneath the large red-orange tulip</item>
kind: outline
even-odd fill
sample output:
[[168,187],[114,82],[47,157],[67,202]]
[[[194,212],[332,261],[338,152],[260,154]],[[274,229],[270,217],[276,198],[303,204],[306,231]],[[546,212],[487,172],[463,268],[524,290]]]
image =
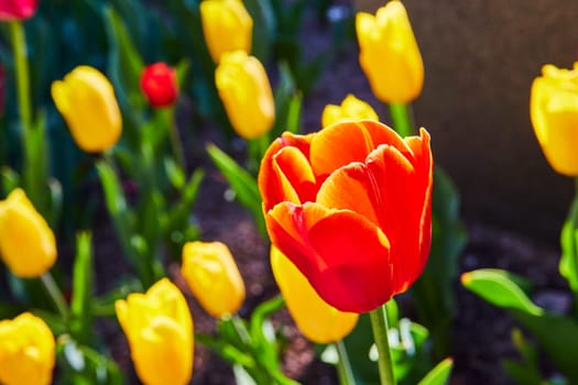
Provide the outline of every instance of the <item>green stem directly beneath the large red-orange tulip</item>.
[[385,305],[380,306],[369,315],[371,319],[371,329],[373,330],[373,339],[379,352],[378,365],[381,385],[395,385],[396,382],[393,373],[390,340],[388,337],[389,327]]

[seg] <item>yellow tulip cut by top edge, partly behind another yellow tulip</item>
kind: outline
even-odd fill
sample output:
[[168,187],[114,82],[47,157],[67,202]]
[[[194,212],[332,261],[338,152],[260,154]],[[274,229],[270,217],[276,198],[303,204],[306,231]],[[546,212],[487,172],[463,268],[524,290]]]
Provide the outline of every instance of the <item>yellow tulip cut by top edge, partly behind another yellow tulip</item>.
[[203,34],[215,63],[226,52],[251,53],[253,19],[241,0],[205,0],[200,3]]

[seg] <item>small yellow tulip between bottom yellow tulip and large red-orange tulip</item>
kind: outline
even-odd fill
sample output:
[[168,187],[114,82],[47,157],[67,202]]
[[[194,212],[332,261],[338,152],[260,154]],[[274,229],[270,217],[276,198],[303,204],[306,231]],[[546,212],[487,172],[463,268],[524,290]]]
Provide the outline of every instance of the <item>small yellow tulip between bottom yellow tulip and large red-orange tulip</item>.
[[195,298],[212,317],[232,315],[243,304],[243,279],[226,244],[185,243],[181,272]]

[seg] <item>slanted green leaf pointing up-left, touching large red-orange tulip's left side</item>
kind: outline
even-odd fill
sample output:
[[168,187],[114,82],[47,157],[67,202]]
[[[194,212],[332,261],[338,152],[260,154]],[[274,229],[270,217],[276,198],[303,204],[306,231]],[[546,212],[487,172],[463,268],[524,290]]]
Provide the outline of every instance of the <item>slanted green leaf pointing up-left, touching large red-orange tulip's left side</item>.
[[255,178],[215,144],[207,145],[207,152],[217,168],[229,182],[239,202],[253,216],[260,233],[265,237],[265,220],[261,209],[261,195]]

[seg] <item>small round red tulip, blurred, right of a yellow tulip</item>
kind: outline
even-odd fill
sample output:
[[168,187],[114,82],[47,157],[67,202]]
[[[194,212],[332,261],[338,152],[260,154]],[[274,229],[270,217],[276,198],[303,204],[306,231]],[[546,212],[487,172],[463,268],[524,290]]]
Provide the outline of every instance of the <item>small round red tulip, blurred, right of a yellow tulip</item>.
[[145,67],[141,74],[141,89],[153,107],[167,107],[178,98],[176,72],[165,63]]

